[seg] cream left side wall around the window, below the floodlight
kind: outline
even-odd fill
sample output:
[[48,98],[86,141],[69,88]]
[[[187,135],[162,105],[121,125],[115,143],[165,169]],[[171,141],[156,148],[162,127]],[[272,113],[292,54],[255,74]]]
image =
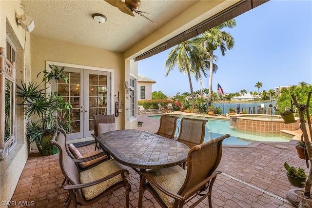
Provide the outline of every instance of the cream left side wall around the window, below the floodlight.
[[[0,47],[6,49],[6,35],[16,47],[17,61],[17,75],[16,81],[20,83],[21,80],[29,78],[30,69],[30,34],[22,29],[15,20],[15,14],[23,14],[20,8],[20,1],[0,1]],[[2,75],[0,75],[2,76]],[[1,99],[1,105],[3,100]],[[0,207],[2,202],[11,200],[15,187],[20,178],[20,174],[28,158],[28,145],[25,141],[24,119],[20,107],[17,109],[17,145],[14,149],[0,162]],[[1,118],[3,122],[4,118]],[[0,135],[3,137],[4,135]]]

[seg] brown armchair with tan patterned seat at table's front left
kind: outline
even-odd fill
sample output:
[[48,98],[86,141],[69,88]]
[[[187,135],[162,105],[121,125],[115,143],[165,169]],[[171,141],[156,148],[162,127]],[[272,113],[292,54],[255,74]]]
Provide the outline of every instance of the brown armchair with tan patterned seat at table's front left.
[[[129,208],[131,187],[126,179],[126,174],[128,175],[129,171],[111,159],[79,172],[75,163],[82,159],[75,161],[67,154],[65,135],[58,132],[55,132],[54,139],[50,143],[59,148],[59,166],[68,181],[68,185],[64,186],[64,189],[69,191],[69,196],[65,202],[66,207],[70,205],[71,201],[73,201],[74,208],[77,208],[78,204],[91,205],[104,196],[110,195],[113,191],[125,187],[126,208]],[[58,141],[55,141],[58,135]]]

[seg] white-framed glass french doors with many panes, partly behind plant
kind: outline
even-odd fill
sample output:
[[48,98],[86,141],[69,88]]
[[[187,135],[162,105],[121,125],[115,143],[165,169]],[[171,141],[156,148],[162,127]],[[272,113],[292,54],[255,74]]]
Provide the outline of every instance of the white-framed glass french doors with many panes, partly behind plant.
[[69,82],[59,82],[53,91],[73,106],[70,117],[74,131],[67,139],[89,137],[94,132],[93,115],[111,114],[111,72],[71,67],[65,71]]

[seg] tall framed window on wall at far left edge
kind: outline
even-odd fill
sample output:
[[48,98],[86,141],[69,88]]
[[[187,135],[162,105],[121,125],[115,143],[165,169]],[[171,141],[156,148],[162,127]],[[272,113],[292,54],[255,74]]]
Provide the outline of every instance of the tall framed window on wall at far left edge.
[[[4,107],[4,140],[0,141],[1,148],[4,148],[5,153],[8,154],[16,145],[15,139],[15,63],[16,63],[16,48],[11,40],[6,39],[5,50],[5,64],[1,65],[1,69],[5,71],[1,72],[1,76],[4,76],[4,89],[0,89],[4,92],[5,107]],[[1,62],[2,63],[2,62]],[[1,116],[1,118],[3,118]],[[1,122],[2,123],[2,122]],[[2,123],[2,124],[3,124]]]

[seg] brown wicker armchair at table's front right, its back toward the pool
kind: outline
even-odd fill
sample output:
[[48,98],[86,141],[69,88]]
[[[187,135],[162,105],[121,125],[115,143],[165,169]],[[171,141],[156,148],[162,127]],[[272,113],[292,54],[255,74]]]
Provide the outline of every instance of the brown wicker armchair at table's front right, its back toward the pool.
[[163,208],[182,208],[191,200],[191,208],[194,208],[206,197],[212,208],[212,188],[217,174],[221,173],[215,169],[222,157],[222,141],[227,137],[230,135],[225,134],[191,148],[187,170],[173,166],[141,172],[139,207],[147,189]]

